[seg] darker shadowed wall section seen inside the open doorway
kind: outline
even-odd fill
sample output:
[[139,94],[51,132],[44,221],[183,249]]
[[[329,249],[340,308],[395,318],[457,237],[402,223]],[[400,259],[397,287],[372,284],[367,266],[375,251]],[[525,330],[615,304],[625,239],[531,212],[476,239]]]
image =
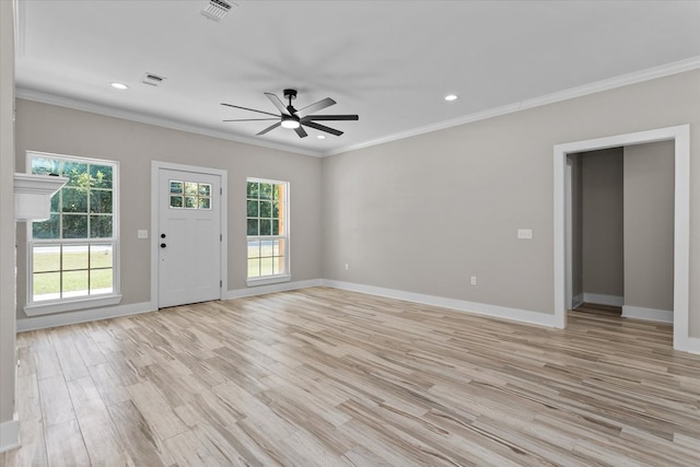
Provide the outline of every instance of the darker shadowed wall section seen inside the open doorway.
[[623,296],[622,148],[580,157],[583,292]]

